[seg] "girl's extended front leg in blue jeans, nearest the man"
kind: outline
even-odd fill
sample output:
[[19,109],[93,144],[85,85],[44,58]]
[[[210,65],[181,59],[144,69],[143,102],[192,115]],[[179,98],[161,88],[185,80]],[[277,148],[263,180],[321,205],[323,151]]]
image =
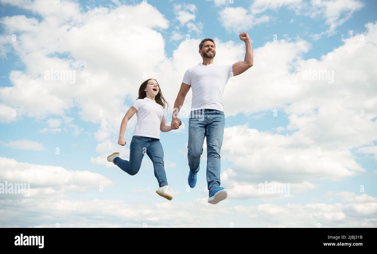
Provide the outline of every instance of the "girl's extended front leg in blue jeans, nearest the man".
[[151,142],[147,148],[147,155],[153,162],[155,177],[158,181],[159,187],[168,185],[164,167],[164,150],[162,149],[162,145],[158,139]]

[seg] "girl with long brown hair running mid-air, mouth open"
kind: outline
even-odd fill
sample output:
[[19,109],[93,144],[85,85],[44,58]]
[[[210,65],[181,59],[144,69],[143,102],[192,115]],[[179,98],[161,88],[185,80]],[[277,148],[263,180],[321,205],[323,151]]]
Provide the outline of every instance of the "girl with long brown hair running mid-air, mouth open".
[[[139,88],[139,97],[124,116],[120,125],[118,144],[125,145],[124,132],[127,122],[136,113],[137,123],[130,143],[130,160],[126,161],[119,157],[119,153],[113,153],[107,157],[107,161],[113,162],[123,171],[130,175],[138,173],[144,154],[147,153],[155,171],[159,188],[156,191],[162,197],[172,200],[170,188],[167,185],[164,168],[164,150],[159,141],[161,132],[169,132],[172,127],[166,125],[163,115],[165,105],[169,107],[161,93],[161,89],[155,79],[144,81]],[[181,122],[175,121],[174,127],[179,128]]]

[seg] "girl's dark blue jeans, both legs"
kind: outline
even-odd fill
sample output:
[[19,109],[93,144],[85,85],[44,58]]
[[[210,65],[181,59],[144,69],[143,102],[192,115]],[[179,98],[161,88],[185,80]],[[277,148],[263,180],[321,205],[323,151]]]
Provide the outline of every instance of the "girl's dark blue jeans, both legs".
[[157,178],[159,187],[168,185],[164,168],[164,150],[162,150],[162,145],[157,138],[133,136],[130,143],[130,160],[126,161],[116,157],[114,163],[121,170],[133,176],[139,172],[145,153],[147,153],[153,162],[155,177]]

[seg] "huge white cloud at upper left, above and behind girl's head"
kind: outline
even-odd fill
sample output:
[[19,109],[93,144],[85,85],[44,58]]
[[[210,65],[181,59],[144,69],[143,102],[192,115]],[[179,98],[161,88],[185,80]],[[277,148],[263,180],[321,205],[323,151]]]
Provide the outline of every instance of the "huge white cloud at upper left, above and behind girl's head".
[[[81,23],[75,23],[75,19],[67,20],[67,17],[58,20],[60,15],[55,17],[43,11],[59,8],[61,12],[60,8],[65,8],[62,3],[57,5],[51,2],[43,7],[35,5],[19,3],[21,8],[42,12],[40,14],[45,19],[40,22],[26,17],[20,21],[20,16],[1,20],[6,31],[16,31],[19,35],[17,42],[9,46],[27,66],[25,73],[11,72],[9,78],[12,87],[0,89],[3,104],[15,107],[18,116],[44,118],[51,114],[63,115],[64,110],[73,107],[75,101],[81,118],[86,121],[101,121],[100,110],[104,118],[114,118],[126,111],[122,105],[125,96],[136,96],[143,72],[149,73],[152,66],[165,57],[161,34],[152,28],[167,28],[168,21],[148,4],[119,6],[112,10],[95,8],[77,15]],[[77,13],[78,9],[77,6],[77,10],[71,13]],[[153,19],[144,18],[143,13],[146,12]],[[124,26],[125,23],[127,26]],[[150,40],[140,40],[144,34],[149,34]],[[139,50],[125,48],[143,48],[143,54],[153,57],[145,63],[140,58]],[[72,58],[50,56],[63,52],[68,52]],[[97,54],[94,56],[92,52]],[[51,67],[56,70],[76,70],[75,84],[44,80],[43,71]],[[104,84],[111,84],[111,89],[104,89]],[[128,92],[116,94],[114,90]],[[109,101],[112,103],[109,104]]]

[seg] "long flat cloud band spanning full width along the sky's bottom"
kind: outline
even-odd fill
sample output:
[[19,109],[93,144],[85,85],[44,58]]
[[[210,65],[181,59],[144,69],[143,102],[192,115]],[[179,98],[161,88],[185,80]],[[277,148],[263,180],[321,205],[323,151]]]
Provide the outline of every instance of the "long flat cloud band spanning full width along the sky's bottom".
[[[143,190],[151,191],[152,190]],[[155,194],[155,193],[154,193]],[[155,197],[157,195],[155,194]],[[28,197],[0,199],[2,226],[18,227],[375,227],[377,203],[259,204],[214,206],[207,199],[191,202],[125,202]],[[152,193],[151,193],[152,197]],[[43,202],[41,202],[43,200]],[[26,214],[16,210],[28,211]],[[31,217],[33,218],[31,220]],[[77,220],[85,217],[85,220]],[[106,219],[106,221],[105,221]]]

